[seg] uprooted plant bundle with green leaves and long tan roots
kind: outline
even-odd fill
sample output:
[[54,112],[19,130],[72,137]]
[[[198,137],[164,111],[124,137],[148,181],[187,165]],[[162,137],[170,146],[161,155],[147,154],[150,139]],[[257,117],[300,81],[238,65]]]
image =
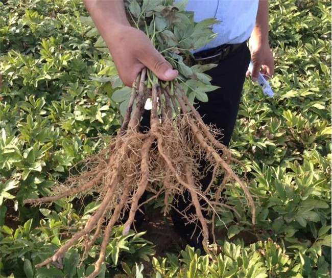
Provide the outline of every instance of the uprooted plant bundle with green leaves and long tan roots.
[[[216,89],[210,84],[211,78],[203,73],[214,65],[186,65],[192,50],[203,47],[215,37],[210,26],[216,20],[206,19],[197,24],[193,13],[185,12],[184,6],[172,0],[126,3],[133,26],[148,35],[155,48],[178,69],[179,76],[175,81],[162,82],[151,71],[143,69],[128,99],[124,100],[128,104],[124,121],[110,145],[85,161],[85,171],[54,188],[52,196],[25,201],[41,204],[66,197],[83,198],[91,193],[97,196],[94,201],[100,201],[85,225],[77,229],[53,257],[36,267],[52,262],[61,265],[64,253],[74,246],[83,246],[86,255],[96,240],[102,239],[99,258],[89,276],[96,277],[105,259],[112,227],[123,219],[125,212],[129,212],[123,223],[123,233],[127,234],[135,213],[145,203],[162,196],[166,214],[171,208],[176,209],[170,202],[172,197],[180,198],[185,191],[191,196],[191,206],[195,207],[196,214],[187,216],[185,212],[179,213],[186,217],[188,223],[196,223],[197,229],[201,229],[206,249],[208,224],[211,223],[213,234],[218,210],[226,206],[234,211],[222,201],[221,192],[226,184],[242,188],[255,223],[253,198],[230,166],[236,160],[217,140],[220,131],[204,124],[193,105],[195,99],[207,101],[206,92]],[[140,120],[148,99],[152,104],[151,128],[141,133]],[[201,169],[200,160],[207,161],[206,169]],[[213,177],[203,190],[200,180],[207,171],[212,171]],[[223,183],[214,184],[221,175]],[[152,197],[139,203],[145,191],[151,192]],[[208,213],[211,220],[206,217]]]

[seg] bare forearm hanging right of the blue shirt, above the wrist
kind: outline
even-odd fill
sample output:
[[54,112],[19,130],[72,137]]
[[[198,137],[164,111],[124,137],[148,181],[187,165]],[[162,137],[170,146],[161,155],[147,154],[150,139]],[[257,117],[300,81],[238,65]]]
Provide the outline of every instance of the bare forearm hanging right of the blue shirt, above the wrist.
[[269,1],[259,0],[255,27],[251,34],[259,43],[269,43]]

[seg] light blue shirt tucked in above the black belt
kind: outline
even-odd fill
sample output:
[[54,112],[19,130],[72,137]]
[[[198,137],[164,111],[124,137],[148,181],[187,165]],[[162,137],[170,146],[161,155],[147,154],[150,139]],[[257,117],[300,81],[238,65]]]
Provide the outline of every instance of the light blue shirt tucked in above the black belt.
[[218,36],[201,50],[218,47],[224,43],[246,41],[254,28],[258,0],[189,0],[186,10],[194,12],[194,19],[215,17],[220,24],[212,26]]

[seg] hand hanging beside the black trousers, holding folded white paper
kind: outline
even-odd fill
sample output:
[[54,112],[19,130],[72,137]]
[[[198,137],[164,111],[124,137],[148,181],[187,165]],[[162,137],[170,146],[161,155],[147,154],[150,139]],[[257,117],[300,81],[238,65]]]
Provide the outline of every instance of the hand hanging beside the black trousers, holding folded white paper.
[[259,72],[266,79],[271,78],[274,74],[274,61],[269,42],[260,42],[254,36],[249,39],[249,49],[253,63],[252,73],[247,71],[247,76],[251,75],[252,81],[257,81]]

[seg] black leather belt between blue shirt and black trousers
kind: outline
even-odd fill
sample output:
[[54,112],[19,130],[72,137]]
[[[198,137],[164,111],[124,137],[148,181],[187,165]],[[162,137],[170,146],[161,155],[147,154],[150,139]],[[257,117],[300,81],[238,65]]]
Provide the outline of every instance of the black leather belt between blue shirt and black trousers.
[[236,49],[239,49],[243,44],[235,43],[235,44],[222,44],[219,47],[212,48],[209,50],[203,50],[197,53],[194,53],[194,59],[192,61],[193,64],[218,64],[220,61],[224,60]]

